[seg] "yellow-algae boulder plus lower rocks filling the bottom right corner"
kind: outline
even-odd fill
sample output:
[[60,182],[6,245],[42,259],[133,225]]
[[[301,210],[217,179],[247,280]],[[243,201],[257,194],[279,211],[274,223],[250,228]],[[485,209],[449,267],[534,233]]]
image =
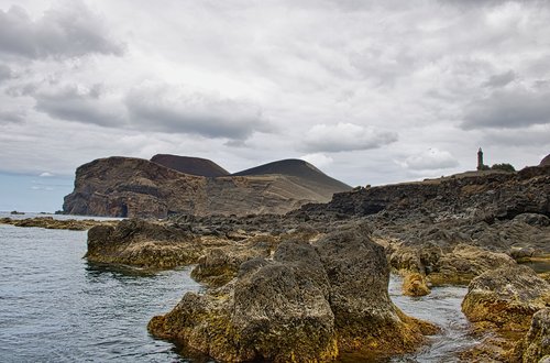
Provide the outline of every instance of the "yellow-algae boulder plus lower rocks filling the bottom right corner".
[[498,268],[474,278],[462,311],[474,323],[482,343],[464,352],[463,359],[538,362],[547,354],[542,351],[549,339],[548,321],[538,311],[548,310],[548,306],[550,285],[529,267]]

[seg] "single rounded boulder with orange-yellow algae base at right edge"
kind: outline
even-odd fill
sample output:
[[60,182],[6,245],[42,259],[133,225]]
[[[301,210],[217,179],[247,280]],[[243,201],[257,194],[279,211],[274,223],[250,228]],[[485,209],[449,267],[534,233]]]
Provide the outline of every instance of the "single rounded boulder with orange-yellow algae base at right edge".
[[479,324],[527,331],[532,315],[547,305],[550,305],[550,285],[531,268],[517,265],[474,278],[462,301],[462,311]]

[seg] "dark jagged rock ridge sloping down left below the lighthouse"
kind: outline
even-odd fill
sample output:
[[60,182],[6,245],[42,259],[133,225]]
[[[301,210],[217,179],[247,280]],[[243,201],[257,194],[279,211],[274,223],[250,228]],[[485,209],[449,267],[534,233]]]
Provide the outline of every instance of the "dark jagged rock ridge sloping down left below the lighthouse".
[[304,206],[302,211],[344,216],[427,211],[436,221],[473,218],[488,222],[526,212],[550,216],[550,166],[527,167],[517,173],[472,172],[354,189],[334,195],[327,206]]

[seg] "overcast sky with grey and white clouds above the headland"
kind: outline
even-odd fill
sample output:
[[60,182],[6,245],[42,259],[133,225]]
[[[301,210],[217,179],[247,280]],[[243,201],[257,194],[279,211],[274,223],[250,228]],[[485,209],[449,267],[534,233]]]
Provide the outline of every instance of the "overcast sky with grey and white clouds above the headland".
[[156,153],[352,186],[550,153],[549,1],[0,0],[0,210]]

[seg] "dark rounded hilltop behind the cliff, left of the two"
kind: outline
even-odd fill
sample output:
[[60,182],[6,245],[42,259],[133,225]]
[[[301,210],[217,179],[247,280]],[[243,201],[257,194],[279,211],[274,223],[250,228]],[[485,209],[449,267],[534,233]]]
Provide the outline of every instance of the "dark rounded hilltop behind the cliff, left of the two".
[[151,161],[169,167],[170,169],[189,175],[217,177],[228,176],[230,174],[228,170],[207,158],[156,154],[151,158]]

